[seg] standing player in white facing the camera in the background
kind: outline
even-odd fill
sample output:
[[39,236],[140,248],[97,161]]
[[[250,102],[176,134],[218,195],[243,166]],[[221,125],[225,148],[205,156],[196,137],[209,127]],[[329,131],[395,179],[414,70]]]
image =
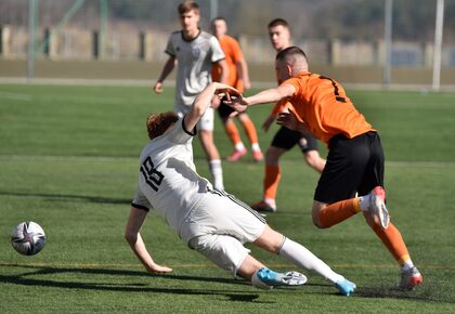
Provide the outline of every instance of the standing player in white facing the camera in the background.
[[[183,117],[193,104],[194,97],[211,81],[212,63],[221,68],[221,82],[226,82],[229,67],[218,40],[199,28],[199,5],[184,1],[178,8],[182,30],[171,34],[166,53],[166,62],[154,90],[160,94],[162,82],[178,64],[176,103],[173,110]],[[213,110],[206,112],[199,122],[199,139],[213,176],[213,185],[224,189],[221,158],[213,142]]]

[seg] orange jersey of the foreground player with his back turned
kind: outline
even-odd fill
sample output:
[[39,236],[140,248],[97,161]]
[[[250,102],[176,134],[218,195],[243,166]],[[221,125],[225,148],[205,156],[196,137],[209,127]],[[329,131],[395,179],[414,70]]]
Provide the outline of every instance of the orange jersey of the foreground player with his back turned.
[[337,134],[352,139],[375,131],[335,80],[304,71],[283,84],[291,84],[296,89],[288,99],[292,112],[324,143],[328,144]]

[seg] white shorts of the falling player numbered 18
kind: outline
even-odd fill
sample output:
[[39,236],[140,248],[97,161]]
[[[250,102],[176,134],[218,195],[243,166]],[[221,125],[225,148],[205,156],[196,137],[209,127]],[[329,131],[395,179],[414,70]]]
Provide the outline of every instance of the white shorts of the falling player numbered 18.
[[236,275],[255,241],[264,231],[265,220],[247,205],[224,192],[212,191],[191,211],[180,228],[188,246],[223,270]]

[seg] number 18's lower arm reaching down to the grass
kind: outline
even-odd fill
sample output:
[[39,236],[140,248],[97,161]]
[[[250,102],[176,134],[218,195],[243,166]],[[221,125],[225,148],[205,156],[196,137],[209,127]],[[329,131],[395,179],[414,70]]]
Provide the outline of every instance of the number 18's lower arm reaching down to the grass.
[[130,245],[134,254],[139,258],[141,263],[145,266],[150,273],[169,273],[172,272],[172,269],[168,266],[162,266],[152,259],[152,256],[148,253],[145,248],[145,244],[141,237],[140,230],[144,220],[147,215],[147,212],[132,207],[130,209],[130,217],[128,218],[127,227],[125,230],[125,238]]

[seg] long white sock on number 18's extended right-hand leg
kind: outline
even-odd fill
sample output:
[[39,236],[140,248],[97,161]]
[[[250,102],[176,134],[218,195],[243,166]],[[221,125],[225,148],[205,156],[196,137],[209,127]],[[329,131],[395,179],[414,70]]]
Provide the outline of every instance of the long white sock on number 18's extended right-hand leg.
[[335,273],[326,263],[320,260],[302,245],[285,238],[278,254],[299,267],[315,272],[332,283],[344,280],[344,277]]

